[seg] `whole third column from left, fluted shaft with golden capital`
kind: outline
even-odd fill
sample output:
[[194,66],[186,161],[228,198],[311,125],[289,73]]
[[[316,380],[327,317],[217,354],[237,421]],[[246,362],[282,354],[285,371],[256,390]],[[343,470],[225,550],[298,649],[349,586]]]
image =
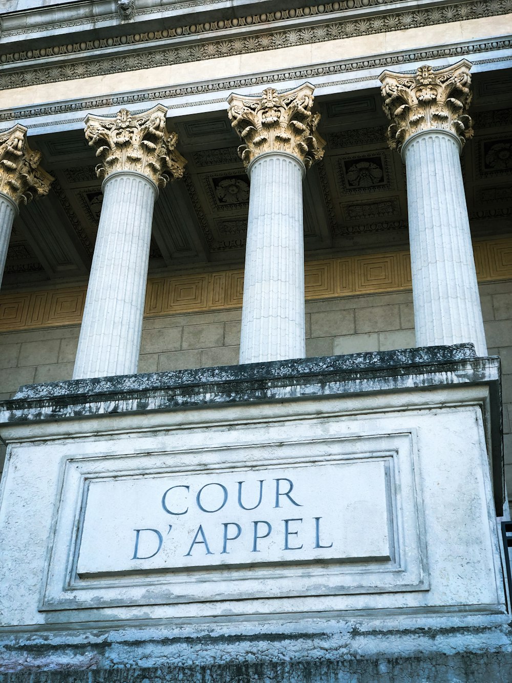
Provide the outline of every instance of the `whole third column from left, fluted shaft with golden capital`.
[[240,363],[305,355],[302,180],[322,158],[309,83],[258,98],[231,95],[231,125],[251,178]]

